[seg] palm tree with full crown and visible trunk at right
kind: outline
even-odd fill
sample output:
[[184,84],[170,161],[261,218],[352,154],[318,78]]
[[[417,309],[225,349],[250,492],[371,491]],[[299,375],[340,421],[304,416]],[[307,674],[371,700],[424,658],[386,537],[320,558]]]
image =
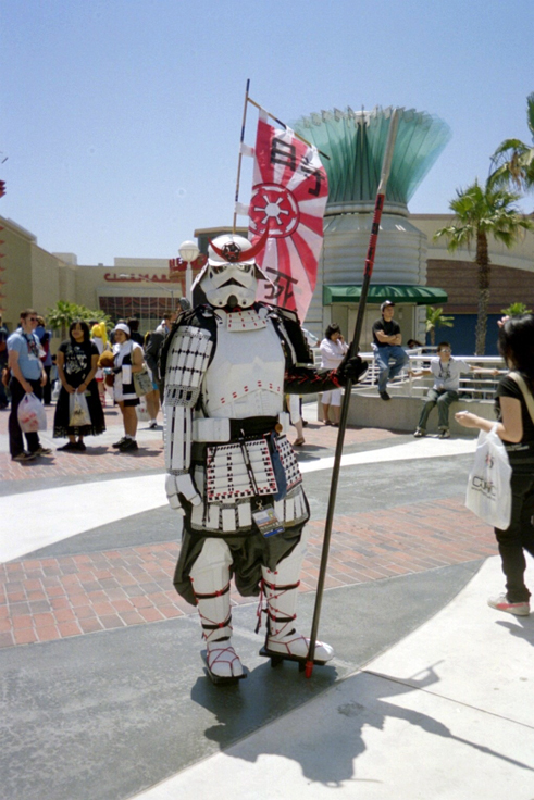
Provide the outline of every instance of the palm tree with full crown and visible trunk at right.
[[488,236],[511,248],[520,240],[524,230],[534,229],[534,223],[516,208],[519,195],[507,189],[492,188],[489,182],[483,187],[475,180],[463,191],[457,190],[456,195],[449,203],[450,210],[455,212],[455,220],[451,225],[437,230],[434,238],[445,236],[450,252],[464,246],[469,248],[473,241],[476,243],[474,261],[479,267],[479,314],[475,355],[484,355],[490,279]]

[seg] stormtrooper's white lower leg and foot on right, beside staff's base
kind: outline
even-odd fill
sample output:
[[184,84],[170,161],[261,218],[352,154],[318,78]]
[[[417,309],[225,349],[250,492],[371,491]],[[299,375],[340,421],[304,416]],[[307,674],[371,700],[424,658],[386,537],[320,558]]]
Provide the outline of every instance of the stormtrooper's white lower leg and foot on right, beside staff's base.
[[[295,628],[297,618],[297,597],[300,584],[299,575],[306,547],[299,542],[286,559],[283,559],[274,572],[262,567],[262,589],[266,601],[268,633],[265,645],[260,655],[271,659],[271,666],[284,660],[299,662],[303,670],[310,640]],[[334,655],[330,645],[318,641],[315,645],[314,664],[325,664]]]

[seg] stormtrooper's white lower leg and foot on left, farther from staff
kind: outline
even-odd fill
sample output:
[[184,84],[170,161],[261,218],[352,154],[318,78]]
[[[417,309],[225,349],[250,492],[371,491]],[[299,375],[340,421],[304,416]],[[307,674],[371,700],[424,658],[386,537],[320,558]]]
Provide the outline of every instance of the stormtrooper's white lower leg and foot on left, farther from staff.
[[227,545],[222,539],[207,539],[190,572],[206,641],[206,654],[202,655],[214,684],[235,683],[247,677],[231,641],[231,563]]

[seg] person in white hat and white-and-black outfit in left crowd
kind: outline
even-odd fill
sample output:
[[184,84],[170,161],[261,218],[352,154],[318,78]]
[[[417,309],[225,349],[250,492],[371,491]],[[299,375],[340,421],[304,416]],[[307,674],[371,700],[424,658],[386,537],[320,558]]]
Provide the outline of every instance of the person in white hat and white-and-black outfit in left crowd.
[[126,323],[115,325],[113,345],[113,393],[121,414],[123,415],[124,436],[112,446],[121,452],[137,450],[135,436],[137,433],[137,413],[135,407],[139,404],[139,398],[134,386],[134,374],[142,372],[142,348],[136,341],[132,341],[129,327]]

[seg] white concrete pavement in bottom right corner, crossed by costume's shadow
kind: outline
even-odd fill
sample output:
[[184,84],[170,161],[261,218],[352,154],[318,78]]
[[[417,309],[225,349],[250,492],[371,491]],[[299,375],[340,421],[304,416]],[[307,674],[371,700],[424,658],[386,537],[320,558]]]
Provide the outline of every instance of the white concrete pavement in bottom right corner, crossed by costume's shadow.
[[136,798],[531,800],[534,625],[485,607],[500,579],[488,559],[364,668]]

